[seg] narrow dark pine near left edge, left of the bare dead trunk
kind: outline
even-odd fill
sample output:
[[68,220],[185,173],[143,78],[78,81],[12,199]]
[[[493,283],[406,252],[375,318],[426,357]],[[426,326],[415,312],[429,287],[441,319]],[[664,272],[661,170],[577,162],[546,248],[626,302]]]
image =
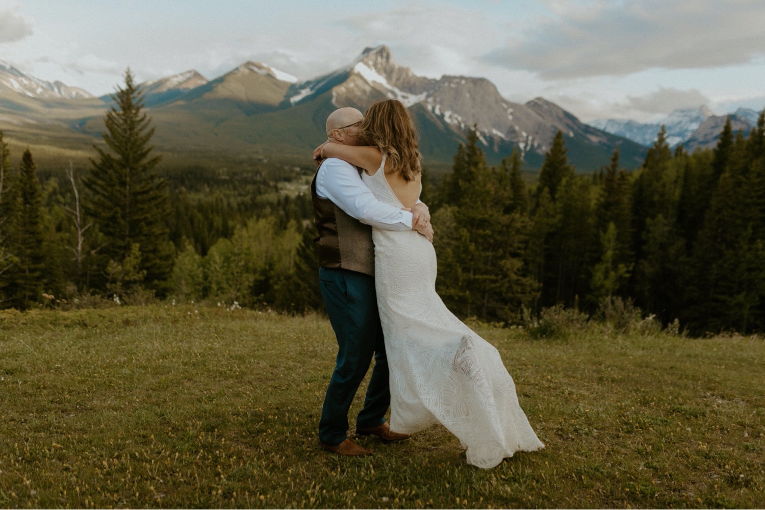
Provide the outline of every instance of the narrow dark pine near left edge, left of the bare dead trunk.
[[18,174],[18,211],[16,214],[15,255],[18,263],[13,271],[14,305],[26,310],[39,300],[42,292],[43,231],[41,190],[34,175],[35,165],[27,149],[21,157]]

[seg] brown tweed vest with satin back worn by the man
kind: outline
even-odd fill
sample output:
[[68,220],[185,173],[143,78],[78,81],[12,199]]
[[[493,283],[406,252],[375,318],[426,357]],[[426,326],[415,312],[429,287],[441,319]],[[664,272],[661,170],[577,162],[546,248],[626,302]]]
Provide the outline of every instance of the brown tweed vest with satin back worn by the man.
[[314,219],[319,231],[319,265],[343,268],[374,276],[375,245],[372,227],[348,216],[331,200],[316,193],[316,177],[311,181]]

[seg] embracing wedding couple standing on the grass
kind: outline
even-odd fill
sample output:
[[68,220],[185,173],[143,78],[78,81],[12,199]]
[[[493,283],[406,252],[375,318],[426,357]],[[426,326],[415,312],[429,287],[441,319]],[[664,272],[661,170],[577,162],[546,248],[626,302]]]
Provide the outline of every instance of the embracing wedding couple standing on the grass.
[[[419,201],[421,154],[409,111],[395,99],[338,109],[314,151],[319,285],[337,336],[319,442],[369,455],[347,437],[348,411],[374,357],[356,434],[404,440],[440,423],[467,463],[496,466],[544,447],[519,406],[500,353],[451,313],[435,291],[428,207]],[[385,414],[391,408],[390,421]]]

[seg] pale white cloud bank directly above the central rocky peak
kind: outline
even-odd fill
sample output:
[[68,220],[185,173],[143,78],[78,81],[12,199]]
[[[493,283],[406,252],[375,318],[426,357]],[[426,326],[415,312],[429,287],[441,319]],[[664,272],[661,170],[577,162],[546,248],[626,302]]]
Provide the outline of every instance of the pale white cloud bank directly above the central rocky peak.
[[308,80],[347,66],[365,47],[386,44],[396,63],[419,75],[475,75],[478,67],[485,67],[480,61],[483,44],[499,42],[496,27],[482,12],[425,2],[330,18],[304,25],[295,21],[296,32],[258,31],[208,44],[194,49],[197,65],[219,76],[246,60],[259,60]]

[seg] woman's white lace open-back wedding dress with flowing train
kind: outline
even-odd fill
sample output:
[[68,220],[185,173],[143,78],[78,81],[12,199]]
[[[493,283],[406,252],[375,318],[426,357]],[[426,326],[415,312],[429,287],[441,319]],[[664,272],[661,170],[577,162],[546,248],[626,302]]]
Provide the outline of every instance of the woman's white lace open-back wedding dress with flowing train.
[[[375,197],[402,203],[385,177],[362,175]],[[454,317],[435,291],[431,242],[414,230],[373,229],[375,284],[390,369],[390,428],[414,433],[441,423],[489,468],[519,450],[539,450],[500,353]]]

